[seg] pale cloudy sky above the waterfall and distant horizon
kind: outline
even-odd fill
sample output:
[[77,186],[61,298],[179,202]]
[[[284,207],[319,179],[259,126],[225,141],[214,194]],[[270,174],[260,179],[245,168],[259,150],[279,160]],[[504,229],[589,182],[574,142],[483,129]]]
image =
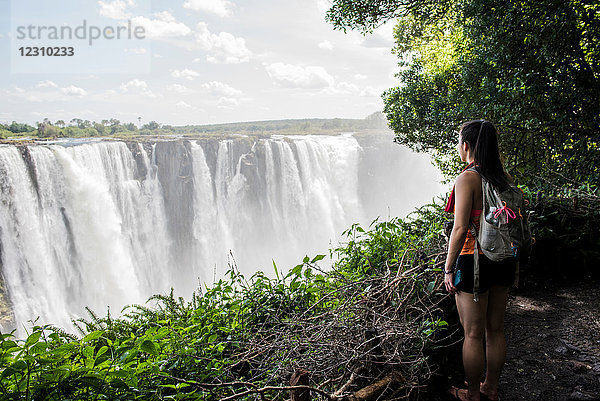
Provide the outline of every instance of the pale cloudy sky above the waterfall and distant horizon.
[[[398,84],[392,24],[368,36],[334,31],[329,6],[0,0],[0,122],[364,118],[381,111],[382,92]],[[48,46],[73,55],[25,55]]]

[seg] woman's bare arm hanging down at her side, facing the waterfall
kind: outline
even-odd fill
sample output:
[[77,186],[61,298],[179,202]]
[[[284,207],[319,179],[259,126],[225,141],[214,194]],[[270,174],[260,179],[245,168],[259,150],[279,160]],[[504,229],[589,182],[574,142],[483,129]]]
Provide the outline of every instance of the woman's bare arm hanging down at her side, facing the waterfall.
[[[448,256],[446,257],[446,264],[444,265],[445,273],[453,271],[456,259],[467,238],[477,179],[477,173],[471,171],[465,171],[456,179],[454,186],[454,227],[452,228],[448,243]],[[448,292],[451,294],[456,293],[456,287],[454,287],[454,273],[444,274],[444,276],[444,282]]]

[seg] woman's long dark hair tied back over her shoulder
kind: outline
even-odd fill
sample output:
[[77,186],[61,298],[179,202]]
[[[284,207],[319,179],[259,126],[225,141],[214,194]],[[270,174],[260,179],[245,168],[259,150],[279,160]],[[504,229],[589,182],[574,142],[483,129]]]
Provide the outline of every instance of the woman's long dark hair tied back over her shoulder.
[[460,126],[460,140],[474,150],[479,171],[500,191],[510,188],[498,148],[498,131],[486,120],[467,121]]

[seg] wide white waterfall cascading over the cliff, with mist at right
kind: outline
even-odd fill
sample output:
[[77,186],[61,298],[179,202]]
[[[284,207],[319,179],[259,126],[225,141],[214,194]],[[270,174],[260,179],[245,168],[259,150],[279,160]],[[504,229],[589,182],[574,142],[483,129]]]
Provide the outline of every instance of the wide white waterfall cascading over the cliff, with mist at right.
[[[396,148],[364,160],[350,134],[1,145],[0,271],[14,314],[2,330],[37,317],[71,330],[85,306],[116,313],[171,287],[187,296],[223,275],[230,252],[247,275],[325,254],[399,194],[420,187],[414,207],[439,192],[426,158]],[[422,174],[398,178],[401,159]],[[370,177],[385,174],[398,188],[374,200],[383,186]]]

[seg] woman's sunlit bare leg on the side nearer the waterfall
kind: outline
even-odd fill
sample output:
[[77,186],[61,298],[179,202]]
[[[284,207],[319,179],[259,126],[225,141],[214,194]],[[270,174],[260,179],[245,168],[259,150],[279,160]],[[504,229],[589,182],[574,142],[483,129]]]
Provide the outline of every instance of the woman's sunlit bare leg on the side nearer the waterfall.
[[486,312],[488,309],[488,293],[479,294],[479,302],[473,301],[473,294],[460,292],[456,294],[456,306],[460,322],[465,330],[463,343],[463,365],[469,384],[471,400],[479,400],[479,383],[483,375],[485,355],[483,351],[483,335],[486,328]]

